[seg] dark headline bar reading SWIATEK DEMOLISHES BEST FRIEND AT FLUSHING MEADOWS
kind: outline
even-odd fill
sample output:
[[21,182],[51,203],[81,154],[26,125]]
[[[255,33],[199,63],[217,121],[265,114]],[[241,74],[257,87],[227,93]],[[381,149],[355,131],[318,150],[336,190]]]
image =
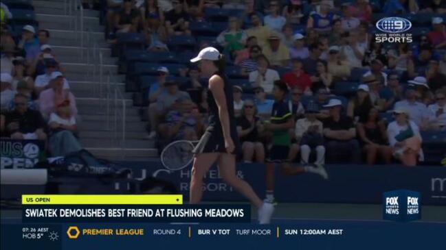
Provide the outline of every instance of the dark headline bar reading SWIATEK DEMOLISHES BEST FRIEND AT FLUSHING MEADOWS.
[[249,223],[249,204],[23,205],[23,223]]

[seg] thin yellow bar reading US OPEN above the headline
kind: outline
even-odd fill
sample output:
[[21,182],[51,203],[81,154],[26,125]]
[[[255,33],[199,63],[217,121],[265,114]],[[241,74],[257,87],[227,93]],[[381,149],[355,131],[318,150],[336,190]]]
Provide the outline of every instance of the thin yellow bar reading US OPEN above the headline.
[[183,195],[22,195],[22,205],[181,205]]

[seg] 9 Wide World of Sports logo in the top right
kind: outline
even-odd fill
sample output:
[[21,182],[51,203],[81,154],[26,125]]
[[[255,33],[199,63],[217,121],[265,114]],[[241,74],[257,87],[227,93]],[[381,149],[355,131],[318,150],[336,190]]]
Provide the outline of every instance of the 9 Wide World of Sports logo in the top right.
[[376,42],[412,42],[412,34],[405,34],[412,23],[402,17],[386,17],[377,22],[376,25],[383,34],[376,34]]

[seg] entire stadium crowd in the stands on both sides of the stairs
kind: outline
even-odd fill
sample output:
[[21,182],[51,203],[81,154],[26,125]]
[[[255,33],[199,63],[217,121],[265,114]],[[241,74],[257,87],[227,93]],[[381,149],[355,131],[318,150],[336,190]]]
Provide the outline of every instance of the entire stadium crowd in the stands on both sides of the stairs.
[[[398,160],[414,166],[423,160],[421,132],[446,130],[443,0],[85,2],[102,10],[107,40],[124,48],[120,58],[132,49],[155,58],[193,55],[208,46],[225,55],[243,162],[265,160],[278,82],[289,88],[292,161]],[[375,16],[395,15],[410,17],[414,42],[375,42]],[[47,45],[49,33],[40,30],[34,38],[35,33],[25,26],[14,42],[2,29],[1,108],[8,110],[1,116],[2,136],[45,138],[48,125],[65,131],[63,136],[66,131],[75,135],[75,98]],[[143,47],[124,46],[125,34],[143,36]],[[149,121],[147,139],[157,139],[160,147],[172,140],[197,140],[208,109],[207,82],[199,67],[188,60],[179,68],[168,60],[151,62],[157,68],[146,74],[156,77],[139,83],[148,110],[143,117]],[[129,76],[135,62],[124,63]]]

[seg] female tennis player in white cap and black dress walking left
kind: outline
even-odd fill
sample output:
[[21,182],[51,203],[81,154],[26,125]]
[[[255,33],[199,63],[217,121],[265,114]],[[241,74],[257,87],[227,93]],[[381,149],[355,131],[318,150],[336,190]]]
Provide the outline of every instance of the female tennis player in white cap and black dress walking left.
[[203,177],[217,162],[223,180],[245,195],[258,208],[258,221],[269,223],[274,205],[264,203],[247,182],[236,176],[236,153],[240,143],[234,119],[232,84],[225,76],[225,59],[213,47],[202,49],[190,62],[199,62],[201,72],[209,79],[209,125],[194,148],[194,164],[190,179],[190,203],[199,203],[203,195]]

